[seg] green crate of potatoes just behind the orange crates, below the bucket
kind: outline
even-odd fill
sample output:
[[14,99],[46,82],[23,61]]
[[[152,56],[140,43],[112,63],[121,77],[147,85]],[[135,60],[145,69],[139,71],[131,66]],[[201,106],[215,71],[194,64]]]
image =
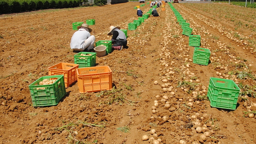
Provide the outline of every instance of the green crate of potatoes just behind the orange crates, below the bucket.
[[[91,54],[91,56],[81,56],[81,54]],[[78,68],[87,68],[95,66],[96,52],[79,52],[74,55],[74,62],[78,64]]]

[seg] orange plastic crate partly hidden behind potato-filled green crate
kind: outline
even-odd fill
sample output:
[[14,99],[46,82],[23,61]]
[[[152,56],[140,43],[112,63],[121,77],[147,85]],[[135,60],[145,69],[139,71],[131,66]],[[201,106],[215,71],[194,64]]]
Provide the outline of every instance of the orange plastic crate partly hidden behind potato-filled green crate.
[[60,62],[48,68],[49,76],[64,75],[65,87],[68,88],[71,84],[77,81],[76,69],[78,69],[78,64],[70,64],[65,62]]

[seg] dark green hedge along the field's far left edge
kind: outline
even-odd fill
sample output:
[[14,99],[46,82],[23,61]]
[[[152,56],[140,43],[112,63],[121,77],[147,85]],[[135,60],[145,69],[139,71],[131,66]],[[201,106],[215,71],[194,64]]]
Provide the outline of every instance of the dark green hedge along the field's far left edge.
[[[74,8],[88,0],[0,0],[0,14],[27,12],[52,8]],[[94,0],[96,5],[104,5],[107,0]]]

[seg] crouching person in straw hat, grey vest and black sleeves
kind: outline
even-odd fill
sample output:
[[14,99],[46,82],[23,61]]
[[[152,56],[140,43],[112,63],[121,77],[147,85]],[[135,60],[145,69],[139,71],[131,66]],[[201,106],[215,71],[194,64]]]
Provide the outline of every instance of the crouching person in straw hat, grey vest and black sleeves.
[[120,30],[120,27],[110,26],[108,35],[112,36],[112,48],[115,50],[123,50],[124,46],[127,45],[127,40],[124,32]]

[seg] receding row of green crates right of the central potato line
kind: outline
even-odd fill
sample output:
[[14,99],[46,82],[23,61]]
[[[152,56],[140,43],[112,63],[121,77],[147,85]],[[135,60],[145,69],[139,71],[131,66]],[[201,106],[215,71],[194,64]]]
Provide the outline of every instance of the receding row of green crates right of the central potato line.
[[[193,29],[189,27],[190,24],[186,23],[186,20],[183,19],[171,3],[168,4],[181,25],[182,34],[189,36],[188,45],[194,46],[193,63],[207,66],[210,62],[210,50],[199,48],[201,36],[191,35]],[[240,88],[233,80],[210,78],[207,96],[210,100],[210,105],[213,107],[236,110],[239,92]]]

